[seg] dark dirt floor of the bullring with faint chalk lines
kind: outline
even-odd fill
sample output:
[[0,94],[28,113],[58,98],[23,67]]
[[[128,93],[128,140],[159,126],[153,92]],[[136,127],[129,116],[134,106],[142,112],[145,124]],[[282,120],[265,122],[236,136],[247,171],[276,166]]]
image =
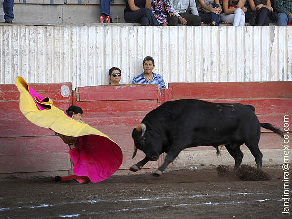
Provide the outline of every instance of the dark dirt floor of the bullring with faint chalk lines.
[[[0,219],[282,219],[283,171],[241,180],[227,167],[112,176],[100,183],[0,180]],[[245,168],[245,174],[253,169]],[[228,171],[227,171],[228,170]],[[221,172],[220,172],[221,171]],[[220,175],[220,176],[218,176]],[[243,174],[244,175],[244,174]],[[248,174],[249,175],[249,174]],[[291,197],[291,189],[290,189]]]

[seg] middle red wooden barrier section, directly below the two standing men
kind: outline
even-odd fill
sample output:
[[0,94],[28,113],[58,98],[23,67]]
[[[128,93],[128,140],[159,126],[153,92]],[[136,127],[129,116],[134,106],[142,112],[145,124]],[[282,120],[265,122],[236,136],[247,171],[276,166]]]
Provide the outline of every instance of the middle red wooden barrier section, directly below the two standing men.
[[[84,111],[82,120],[121,146],[123,164],[120,169],[129,169],[144,158],[145,154],[140,151],[132,159],[134,141],[131,134],[144,116],[161,103],[157,85],[80,87],[73,94],[73,104]],[[145,168],[157,168],[158,162],[148,162]]]

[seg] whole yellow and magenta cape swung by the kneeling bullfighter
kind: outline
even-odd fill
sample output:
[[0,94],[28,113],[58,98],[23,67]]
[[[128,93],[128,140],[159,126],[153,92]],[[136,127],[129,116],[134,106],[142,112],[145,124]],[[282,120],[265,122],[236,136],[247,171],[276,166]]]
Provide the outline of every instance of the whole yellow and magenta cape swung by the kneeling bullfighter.
[[119,169],[123,154],[117,143],[99,130],[67,116],[50,98],[42,98],[22,77],[15,79],[15,85],[20,91],[20,110],[29,121],[62,135],[78,137],[76,147],[69,151],[75,175],[87,176],[96,183]]

